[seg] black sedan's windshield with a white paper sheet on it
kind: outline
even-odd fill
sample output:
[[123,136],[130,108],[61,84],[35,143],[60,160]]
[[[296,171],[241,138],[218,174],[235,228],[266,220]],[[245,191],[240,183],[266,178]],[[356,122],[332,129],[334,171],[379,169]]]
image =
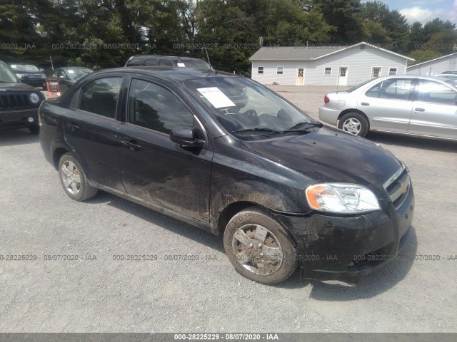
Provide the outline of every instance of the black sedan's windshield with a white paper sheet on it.
[[241,140],[273,138],[286,131],[306,132],[321,125],[249,78],[199,78],[184,82],[184,86]]

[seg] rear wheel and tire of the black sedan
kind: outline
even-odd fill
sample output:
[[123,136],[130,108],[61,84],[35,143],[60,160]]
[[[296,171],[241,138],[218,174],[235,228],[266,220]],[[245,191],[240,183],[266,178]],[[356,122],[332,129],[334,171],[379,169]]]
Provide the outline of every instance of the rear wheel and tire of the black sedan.
[[75,201],[85,201],[99,191],[89,185],[81,165],[71,153],[65,153],[59,160],[59,178],[66,195]]

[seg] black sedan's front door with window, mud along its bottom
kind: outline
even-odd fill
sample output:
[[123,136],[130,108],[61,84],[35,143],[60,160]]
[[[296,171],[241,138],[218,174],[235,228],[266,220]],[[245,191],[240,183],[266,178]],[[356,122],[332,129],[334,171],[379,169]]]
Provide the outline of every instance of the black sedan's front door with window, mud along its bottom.
[[189,106],[171,88],[133,78],[119,157],[127,193],[156,207],[209,222],[211,160],[207,148],[181,147],[169,138],[179,125],[208,140]]

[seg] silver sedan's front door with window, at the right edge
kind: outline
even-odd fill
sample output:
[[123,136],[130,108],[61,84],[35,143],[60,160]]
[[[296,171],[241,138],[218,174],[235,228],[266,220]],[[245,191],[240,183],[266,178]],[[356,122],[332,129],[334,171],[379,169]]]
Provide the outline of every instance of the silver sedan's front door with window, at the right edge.
[[457,92],[444,83],[420,80],[408,133],[457,139]]

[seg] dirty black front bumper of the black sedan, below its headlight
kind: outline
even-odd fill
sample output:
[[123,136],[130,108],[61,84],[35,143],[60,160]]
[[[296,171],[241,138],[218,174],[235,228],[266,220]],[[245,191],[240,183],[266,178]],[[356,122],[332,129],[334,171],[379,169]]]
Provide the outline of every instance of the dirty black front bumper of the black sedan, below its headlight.
[[413,220],[413,188],[398,208],[390,199],[380,202],[381,211],[352,217],[275,214],[296,242],[303,277],[356,283],[393,260]]

